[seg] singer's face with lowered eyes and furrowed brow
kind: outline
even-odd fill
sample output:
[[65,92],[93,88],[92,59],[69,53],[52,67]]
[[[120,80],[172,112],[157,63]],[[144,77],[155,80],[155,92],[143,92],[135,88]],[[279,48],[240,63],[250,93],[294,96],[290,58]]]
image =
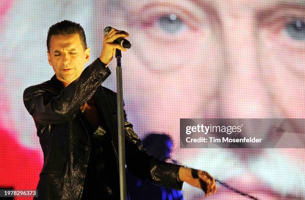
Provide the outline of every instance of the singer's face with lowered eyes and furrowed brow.
[[56,78],[65,84],[70,84],[81,75],[90,58],[90,49],[84,50],[79,34],[52,35],[47,53]]

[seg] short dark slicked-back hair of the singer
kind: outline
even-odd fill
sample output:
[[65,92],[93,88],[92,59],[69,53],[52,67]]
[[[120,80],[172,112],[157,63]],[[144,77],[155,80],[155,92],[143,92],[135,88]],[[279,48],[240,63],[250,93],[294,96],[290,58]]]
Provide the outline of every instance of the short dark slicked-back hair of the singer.
[[79,23],[69,20],[57,22],[49,28],[47,36],[47,49],[50,51],[50,40],[52,35],[78,34],[84,50],[87,49],[86,35],[83,27]]

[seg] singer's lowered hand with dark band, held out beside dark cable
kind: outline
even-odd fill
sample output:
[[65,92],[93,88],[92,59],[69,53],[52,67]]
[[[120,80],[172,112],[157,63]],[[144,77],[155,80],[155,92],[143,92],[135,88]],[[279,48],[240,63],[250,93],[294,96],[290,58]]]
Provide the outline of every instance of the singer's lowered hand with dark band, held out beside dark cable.
[[205,197],[216,193],[215,179],[207,172],[180,167],[178,178],[191,186],[201,188],[205,193]]

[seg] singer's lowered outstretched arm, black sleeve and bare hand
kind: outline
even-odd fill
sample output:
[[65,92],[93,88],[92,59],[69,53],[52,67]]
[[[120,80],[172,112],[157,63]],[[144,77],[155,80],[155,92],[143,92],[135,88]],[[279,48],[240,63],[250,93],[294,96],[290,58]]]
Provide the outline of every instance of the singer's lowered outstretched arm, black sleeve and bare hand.
[[200,188],[206,197],[216,193],[215,179],[207,172],[160,161],[146,153],[133,126],[125,122],[126,164],[130,173],[152,183],[181,190],[183,182]]

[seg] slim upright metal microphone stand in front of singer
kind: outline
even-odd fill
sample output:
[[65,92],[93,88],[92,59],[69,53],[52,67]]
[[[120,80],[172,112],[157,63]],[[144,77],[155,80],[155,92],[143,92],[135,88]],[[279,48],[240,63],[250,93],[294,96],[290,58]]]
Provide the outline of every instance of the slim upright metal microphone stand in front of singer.
[[124,132],[123,79],[122,79],[121,57],[122,57],[121,50],[116,49],[120,200],[126,200],[125,132]]

